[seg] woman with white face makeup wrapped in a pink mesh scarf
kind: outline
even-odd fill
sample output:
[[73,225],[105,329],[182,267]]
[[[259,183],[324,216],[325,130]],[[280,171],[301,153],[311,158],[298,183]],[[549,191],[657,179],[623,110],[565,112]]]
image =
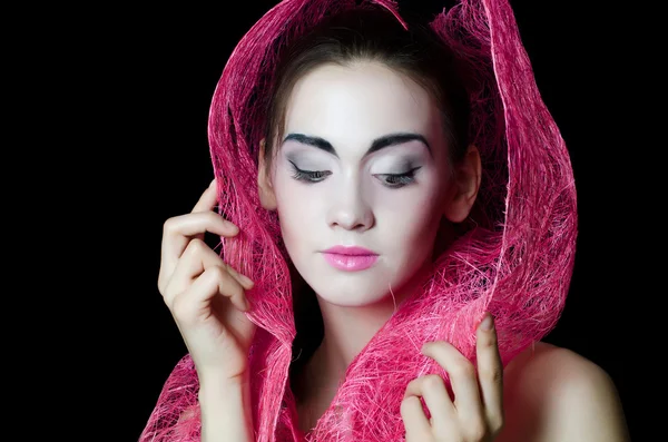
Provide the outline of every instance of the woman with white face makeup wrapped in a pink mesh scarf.
[[283,1],[230,57],[216,179],[165,224],[189,355],[143,440],[626,440],[608,376],[539,342],[576,196],[508,3],[361,3]]

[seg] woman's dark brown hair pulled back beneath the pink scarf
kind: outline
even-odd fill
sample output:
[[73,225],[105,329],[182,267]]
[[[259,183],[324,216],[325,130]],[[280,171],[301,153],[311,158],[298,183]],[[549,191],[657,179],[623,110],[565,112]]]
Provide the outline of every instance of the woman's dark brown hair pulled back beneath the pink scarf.
[[[469,145],[470,116],[461,67],[431,28],[409,17],[404,16],[406,30],[390,11],[352,9],[323,20],[283,49],[267,98],[264,151],[267,165],[283,139],[287,102],[295,84],[324,65],[348,67],[360,61],[382,63],[429,91],[441,111],[450,164],[461,160]],[[294,267],[291,271],[297,332],[293,354],[299,355],[291,364],[293,382],[321,344],[324,331],[315,293]]]

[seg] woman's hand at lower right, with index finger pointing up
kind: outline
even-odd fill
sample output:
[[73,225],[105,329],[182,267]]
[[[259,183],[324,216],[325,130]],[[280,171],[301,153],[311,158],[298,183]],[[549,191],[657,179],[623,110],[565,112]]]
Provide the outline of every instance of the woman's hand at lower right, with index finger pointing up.
[[[450,375],[454,401],[438,374],[414,379],[406,386],[401,418],[406,442],[490,442],[503,428],[503,364],[492,316],[477,331],[478,372],[453,345],[444,341],[423,345]],[[426,419],[420,397],[431,413]]]

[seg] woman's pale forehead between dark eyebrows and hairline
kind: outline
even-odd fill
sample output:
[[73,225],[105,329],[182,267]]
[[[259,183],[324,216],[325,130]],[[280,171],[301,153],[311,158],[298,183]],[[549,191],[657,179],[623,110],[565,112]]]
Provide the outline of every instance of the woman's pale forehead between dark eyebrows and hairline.
[[440,112],[420,85],[384,65],[325,65],[295,84],[285,134],[317,135],[332,143],[375,139],[394,132],[428,136]]

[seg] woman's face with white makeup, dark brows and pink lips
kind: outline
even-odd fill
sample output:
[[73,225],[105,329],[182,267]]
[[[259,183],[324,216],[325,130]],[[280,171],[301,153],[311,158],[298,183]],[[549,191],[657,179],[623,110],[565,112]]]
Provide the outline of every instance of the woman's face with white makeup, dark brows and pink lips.
[[430,265],[451,174],[421,86],[380,63],[320,67],[295,85],[277,149],[283,239],[321,298],[376,303]]

